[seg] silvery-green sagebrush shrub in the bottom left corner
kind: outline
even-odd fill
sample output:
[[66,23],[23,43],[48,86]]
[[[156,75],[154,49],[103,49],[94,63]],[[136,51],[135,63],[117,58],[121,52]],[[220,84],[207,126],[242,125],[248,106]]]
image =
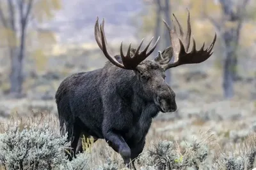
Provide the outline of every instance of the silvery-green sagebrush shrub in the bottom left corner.
[[63,149],[67,136],[60,136],[49,124],[6,125],[0,135],[0,161],[6,169],[56,169],[65,164]]

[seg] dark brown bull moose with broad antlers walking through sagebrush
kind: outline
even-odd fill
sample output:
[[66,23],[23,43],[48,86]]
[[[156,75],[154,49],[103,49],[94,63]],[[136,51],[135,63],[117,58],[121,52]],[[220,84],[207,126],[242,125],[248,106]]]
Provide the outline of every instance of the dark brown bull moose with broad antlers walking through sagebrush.
[[[69,160],[76,157],[77,143],[81,134],[84,134],[86,138],[93,137],[95,141],[105,139],[122,156],[125,166],[134,167],[134,159],[143,151],[152,119],[160,111],[170,113],[177,110],[175,92],[164,81],[165,71],[209,59],[213,53],[216,33],[211,45],[205,50],[205,43],[200,50],[196,50],[193,38],[191,52],[188,52],[191,40],[189,10],[186,35],[174,14],[173,17],[180,34],[175,26],[172,29],[163,20],[172,45],[163,52],[159,51],[154,60],[146,59],[159,41],[158,38],[148,50],[154,37],[141,52],[143,39],[138,48],[131,48],[130,44],[126,55],[122,42],[120,54],[109,53],[104,18],[99,25],[97,17],[95,40],[108,61],[100,69],[68,76],[60,83],[55,96],[61,132],[67,132],[68,140],[71,141],[69,151],[72,155],[68,155]],[[174,61],[170,63],[172,57]]]

